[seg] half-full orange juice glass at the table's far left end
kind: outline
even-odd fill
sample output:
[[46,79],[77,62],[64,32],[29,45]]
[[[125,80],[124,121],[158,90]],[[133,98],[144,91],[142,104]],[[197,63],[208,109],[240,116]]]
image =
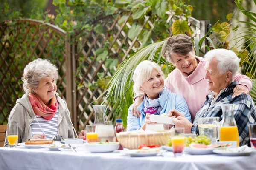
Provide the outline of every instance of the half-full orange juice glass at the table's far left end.
[[7,124],[7,140],[9,147],[17,147],[19,125],[17,123]]

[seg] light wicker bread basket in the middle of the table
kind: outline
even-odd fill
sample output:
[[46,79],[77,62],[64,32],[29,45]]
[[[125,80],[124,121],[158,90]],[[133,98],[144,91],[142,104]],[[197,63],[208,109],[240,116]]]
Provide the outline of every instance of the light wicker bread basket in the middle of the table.
[[138,149],[140,144],[165,145],[171,137],[169,130],[145,133],[143,131],[120,132],[116,133],[116,138],[122,147],[128,149]]

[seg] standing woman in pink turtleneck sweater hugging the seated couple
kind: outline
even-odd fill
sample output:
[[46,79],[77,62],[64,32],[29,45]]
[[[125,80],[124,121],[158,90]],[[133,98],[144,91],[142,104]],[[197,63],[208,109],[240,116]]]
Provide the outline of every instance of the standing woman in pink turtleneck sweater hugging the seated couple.
[[[204,79],[205,60],[195,56],[193,42],[183,34],[167,39],[163,47],[163,56],[176,67],[165,79],[165,87],[185,98],[193,122],[195,114],[206,100],[206,95],[210,93],[207,88],[208,80]],[[233,97],[248,94],[252,88],[251,79],[245,75],[236,73],[234,81],[239,82],[239,85],[234,88]],[[134,101],[133,113],[135,116],[140,115],[137,110],[140,100],[138,97]]]

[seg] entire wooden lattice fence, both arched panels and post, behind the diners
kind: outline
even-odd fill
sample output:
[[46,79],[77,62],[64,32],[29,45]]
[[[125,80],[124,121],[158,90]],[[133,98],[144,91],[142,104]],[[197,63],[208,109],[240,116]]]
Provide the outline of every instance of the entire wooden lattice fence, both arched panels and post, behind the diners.
[[[76,130],[91,124],[94,120],[92,105],[107,102],[104,95],[95,100],[106,90],[105,85],[116,71],[116,65],[143,46],[138,37],[145,31],[152,31],[154,22],[159,20],[144,16],[145,20],[140,23],[131,20],[131,13],[126,13],[128,17],[119,23],[122,15],[97,20],[94,27],[100,25],[100,32],[93,29],[80,31],[76,37],[69,37],[60,28],[36,20],[0,23],[0,124],[7,123],[15,101],[23,94],[21,77],[24,67],[39,57],[58,65],[57,92],[67,101]],[[170,13],[166,22],[172,20],[175,19]],[[194,32],[192,36],[203,37],[207,23],[193,18],[189,21]],[[129,30],[134,25],[139,29],[131,38]],[[156,42],[158,39],[157,35],[151,34],[149,40]],[[99,48],[104,49],[100,54]],[[98,86],[91,86],[96,82]],[[114,111],[110,106],[106,119],[110,119]]]

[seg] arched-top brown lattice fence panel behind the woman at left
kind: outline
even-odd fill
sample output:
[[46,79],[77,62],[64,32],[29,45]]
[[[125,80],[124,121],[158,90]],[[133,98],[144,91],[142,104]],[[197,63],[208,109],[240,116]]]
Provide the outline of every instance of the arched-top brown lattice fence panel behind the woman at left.
[[66,99],[65,31],[37,20],[0,23],[0,124],[6,123],[16,100],[24,92],[21,77],[25,66],[36,58],[57,65],[57,92]]

